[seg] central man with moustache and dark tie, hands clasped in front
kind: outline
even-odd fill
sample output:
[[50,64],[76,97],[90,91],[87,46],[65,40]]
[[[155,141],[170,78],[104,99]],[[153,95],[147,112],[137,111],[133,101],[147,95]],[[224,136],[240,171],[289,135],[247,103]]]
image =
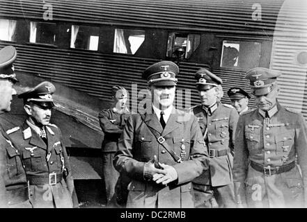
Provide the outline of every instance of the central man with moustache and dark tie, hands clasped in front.
[[208,159],[196,117],[173,107],[178,73],[169,61],[143,72],[152,106],[128,117],[114,160],[132,178],[127,207],[194,207],[191,180]]

